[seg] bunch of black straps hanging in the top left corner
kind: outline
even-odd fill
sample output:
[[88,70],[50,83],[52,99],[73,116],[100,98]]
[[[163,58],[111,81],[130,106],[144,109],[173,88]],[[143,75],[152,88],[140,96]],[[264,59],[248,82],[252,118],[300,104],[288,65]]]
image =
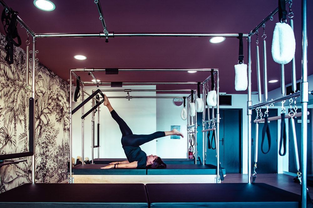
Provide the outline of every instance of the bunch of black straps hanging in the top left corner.
[[[10,13],[9,11],[6,11],[8,10],[3,9],[1,15],[1,21],[4,27],[4,31],[6,33],[5,40],[7,41],[7,45],[4,47],[4,49],[7,51],[5,60],[8,62],[8,64],[13,64],[13,45],[18,47],[22,44],[22,41],[20,36],[18,35],[17,29],[18,12],[12,10],[12,13]],[[17,38],[18,42],[14,41],[15,38]]]

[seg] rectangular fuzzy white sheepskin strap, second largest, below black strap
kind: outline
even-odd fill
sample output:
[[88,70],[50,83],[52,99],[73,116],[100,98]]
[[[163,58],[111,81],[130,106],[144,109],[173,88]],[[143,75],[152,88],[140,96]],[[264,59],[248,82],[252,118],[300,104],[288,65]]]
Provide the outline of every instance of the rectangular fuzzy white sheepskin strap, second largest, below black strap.
[[235,90],[244,91],[248,87],[248,75],[246,64],[235,65]]

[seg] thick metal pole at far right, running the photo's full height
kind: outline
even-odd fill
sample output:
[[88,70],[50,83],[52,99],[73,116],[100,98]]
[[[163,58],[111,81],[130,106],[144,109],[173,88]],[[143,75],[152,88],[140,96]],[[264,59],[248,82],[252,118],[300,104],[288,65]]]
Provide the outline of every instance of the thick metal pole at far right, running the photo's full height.
[[302,126],[301,126],[301,208],[306,207],[307,197],[307,110],[309,102],[309,83],[307,81],[307,22],[306,22],[306,0],[302,0],[302,82],[301,82],[301,104],[302,104]]

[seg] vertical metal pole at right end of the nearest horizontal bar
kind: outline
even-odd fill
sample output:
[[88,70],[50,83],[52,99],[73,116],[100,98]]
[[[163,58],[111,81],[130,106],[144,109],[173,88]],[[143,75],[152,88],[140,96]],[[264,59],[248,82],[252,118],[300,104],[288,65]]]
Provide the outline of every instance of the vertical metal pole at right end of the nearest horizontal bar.
[[251,37],[248,37],[248,102],[247,102],[247,115],[248,115],[248,183],[251,183],[251,116],[252,110],[249,106],[252,105],[251,100]]

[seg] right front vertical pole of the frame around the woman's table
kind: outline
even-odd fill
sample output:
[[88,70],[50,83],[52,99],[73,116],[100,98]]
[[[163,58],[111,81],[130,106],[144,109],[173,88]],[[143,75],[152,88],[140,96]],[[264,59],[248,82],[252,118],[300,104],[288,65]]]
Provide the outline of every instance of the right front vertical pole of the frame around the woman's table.
[[[214,76],[214,75],[213,75]],[[217,175],[217,182],[220,183],[220,175],[219,175],[219,73],[217,71],[217,107],[216,107],[216,154],[217,154],[217,168],[216,168],[216,175]],[[211,77],[212,79],[212,77]],[[213,130],[214,131],[214,130]]]

